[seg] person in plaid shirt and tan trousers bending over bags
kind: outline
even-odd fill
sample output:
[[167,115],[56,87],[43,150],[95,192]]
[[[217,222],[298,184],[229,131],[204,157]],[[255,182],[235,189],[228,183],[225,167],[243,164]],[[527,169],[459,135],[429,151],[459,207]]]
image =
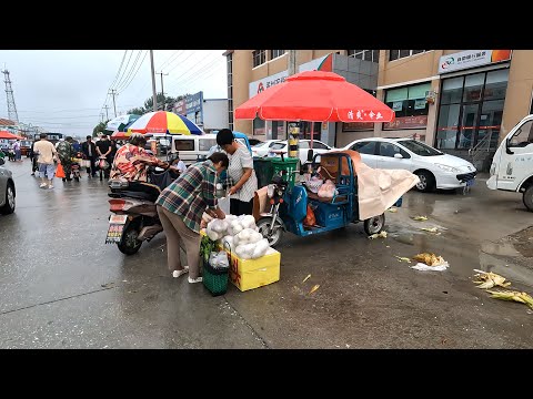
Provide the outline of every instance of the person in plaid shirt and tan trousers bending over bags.
[[[180,177],[164,188],[155,201],[159,218],[167,236],[168,266],[173,277],[189,273],[189,283],[200,283],[200,224],[203,213],[223,219],[218,206],[217,175],[228,168],[224,153],[213,153],[207,161],[187,168]],[[183,242],[188,266],[180,260]]]

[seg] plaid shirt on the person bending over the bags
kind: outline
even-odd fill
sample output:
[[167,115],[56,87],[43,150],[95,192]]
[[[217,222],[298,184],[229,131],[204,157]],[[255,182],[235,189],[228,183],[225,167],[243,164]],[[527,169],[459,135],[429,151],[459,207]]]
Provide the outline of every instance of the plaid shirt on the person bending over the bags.
[[217,207],[215,178],[211,161],[195,163],[161,192],[155,204],[180,215],[185,226],[200,233],[203,212],[208,206]]

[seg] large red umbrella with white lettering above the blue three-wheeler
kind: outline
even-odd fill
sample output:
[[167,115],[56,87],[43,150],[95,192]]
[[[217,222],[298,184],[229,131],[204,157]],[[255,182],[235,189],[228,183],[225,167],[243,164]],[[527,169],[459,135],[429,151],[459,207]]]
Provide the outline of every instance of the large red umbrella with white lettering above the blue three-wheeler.
[[[235,119],[257,116],[265,121],[375,123],[391,122],[394,111],[336,73],[305,71],[251,98],[234,112]],[[311,134],[311,143],[312,139]]]

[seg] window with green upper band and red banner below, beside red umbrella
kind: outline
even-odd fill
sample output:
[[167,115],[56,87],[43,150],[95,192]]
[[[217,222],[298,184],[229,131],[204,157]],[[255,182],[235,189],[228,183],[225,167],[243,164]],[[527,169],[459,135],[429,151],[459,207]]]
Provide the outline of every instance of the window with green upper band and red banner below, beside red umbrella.
[[385,123],[384,130],[420,129],[428,125],[429,104],[425,100],[431,83],[390,89],[385,92],[385,103],[393,111],[395,119]]

